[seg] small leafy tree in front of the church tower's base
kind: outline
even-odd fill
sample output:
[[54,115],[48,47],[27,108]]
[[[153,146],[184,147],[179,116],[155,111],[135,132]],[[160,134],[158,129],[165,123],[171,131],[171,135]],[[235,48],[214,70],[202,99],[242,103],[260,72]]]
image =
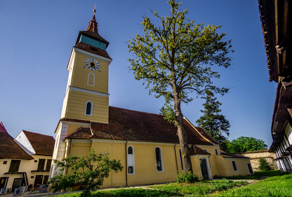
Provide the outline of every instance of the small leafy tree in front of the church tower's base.
[[[47,185],[55,192],[67,188],[72,190],[74,184],[81,184],[83,191],[80,196],[89,196],[91,191],[99,189],[104,178],[109,177],[109,172],[121,172],[124,168],[119,159],[110,160],[108,152],[96,154],[93,149],[88,156],[69,155],[61,161],[54,160],[54,163],[56,168],[61,168],[61,173],[52,177]],[[65,170],[67,174],[63,175]]]

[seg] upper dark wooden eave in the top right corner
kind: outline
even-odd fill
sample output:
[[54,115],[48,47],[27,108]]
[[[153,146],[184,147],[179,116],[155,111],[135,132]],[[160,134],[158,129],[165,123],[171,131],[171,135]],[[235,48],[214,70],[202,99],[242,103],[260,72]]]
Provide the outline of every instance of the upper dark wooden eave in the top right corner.
[[[291,6],[284,0],[258,0],[262,22],[269,81],[291,73]],[[290,71],[290,72],[289,72]]]

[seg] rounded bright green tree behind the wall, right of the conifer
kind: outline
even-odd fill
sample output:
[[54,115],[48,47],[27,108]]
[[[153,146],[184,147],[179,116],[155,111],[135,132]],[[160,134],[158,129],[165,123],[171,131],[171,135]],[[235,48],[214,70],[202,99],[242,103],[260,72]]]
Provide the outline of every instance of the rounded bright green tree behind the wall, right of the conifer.
[[263,140],[258,140],[253,137],[239,137],[227,143],[227,152],[239,153],[248,151],[260,151],[267,149],[267,144]]

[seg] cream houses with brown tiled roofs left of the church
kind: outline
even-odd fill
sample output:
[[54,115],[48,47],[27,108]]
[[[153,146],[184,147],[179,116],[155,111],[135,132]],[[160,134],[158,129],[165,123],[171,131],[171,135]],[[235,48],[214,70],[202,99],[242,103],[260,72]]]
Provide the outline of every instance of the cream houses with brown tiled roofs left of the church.
[[48,180],[55,140],[22,130],[13,139],[0,122],[0,188],[12,191]]

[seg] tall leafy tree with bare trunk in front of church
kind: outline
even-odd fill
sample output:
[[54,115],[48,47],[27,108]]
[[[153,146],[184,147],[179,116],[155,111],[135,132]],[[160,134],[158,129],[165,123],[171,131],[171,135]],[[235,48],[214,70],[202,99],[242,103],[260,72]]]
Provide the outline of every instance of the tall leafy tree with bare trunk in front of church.
[[[228,57],[231,50],[231,40],[225,40],[225,33],[218,34],[221,26],[204,23],[194,25],[193,20],[186,18],[187,10],[181,11],[181,2],[168,1],[171,6],[170,16],[159,16],[157,24],[151,22],[147,16],[143,17],[142,26],[144,35],[136,34],[128,41],[129,52],[133,54],[129,67],[136,80],[143,79],[143,85],[149,88],[149,94],[155,97],[164,96],[166,103],[173,101],[175,121],[178,127],[180,148],[184,154],[183,169],[187,174],[192,172],[190,150],[187,135],[183,125],[181,102],[193,100],[190,93],[204,95],[210,89],[222,95],[228,88],[213,85],[211,79],[219,78],[213,67],[230,66]],[[212,67],[212,68],[211,68]],[[169,117],[172,121],[172,116]]]

